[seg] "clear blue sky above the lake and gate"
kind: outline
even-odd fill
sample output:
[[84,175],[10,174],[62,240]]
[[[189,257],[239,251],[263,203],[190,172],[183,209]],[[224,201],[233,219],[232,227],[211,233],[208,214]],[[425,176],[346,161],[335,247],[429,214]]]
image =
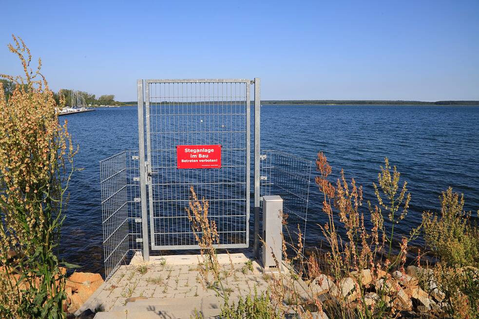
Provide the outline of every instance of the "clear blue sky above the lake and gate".
[[[48,3],[45,3],[48,2]],[[51,88],[136,99],[137,78],[262,79],[263,99],[479,100],[479,1],[5,1]]]

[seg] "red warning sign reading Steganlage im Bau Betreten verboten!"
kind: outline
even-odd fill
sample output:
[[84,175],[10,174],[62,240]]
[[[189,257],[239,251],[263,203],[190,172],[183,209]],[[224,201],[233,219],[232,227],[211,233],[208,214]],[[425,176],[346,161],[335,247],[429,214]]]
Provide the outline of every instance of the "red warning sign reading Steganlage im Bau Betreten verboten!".
[[221,168],[221,145],[177,145],[178,169]]

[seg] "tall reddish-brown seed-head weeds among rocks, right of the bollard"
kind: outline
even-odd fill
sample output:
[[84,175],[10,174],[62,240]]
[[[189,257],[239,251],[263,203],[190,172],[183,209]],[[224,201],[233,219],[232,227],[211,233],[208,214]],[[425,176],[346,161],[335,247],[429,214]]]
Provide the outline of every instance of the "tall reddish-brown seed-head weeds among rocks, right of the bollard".
[[[404,263],[408,243],[416,238],[419,228],[413,229],[408,237],[402,237],[397,244],[399,254],[394,256],[394,225],[399,224],[407,215],[410,194],[406,182],[400,189],[400,173],[396,167],[391,168],[387,158],[378,175],[379,187],[373,184],[378,205],[367,202],[363,207],[363,188],[351,179],[348,183],[341,170],[336,187],[328,180],[331,174],[326,156],[320,152],[316,168],[320,173],[316,184],[323,193],[323,212],[327,216],[325,225],[319,225],[330,247],[326,252],[324,269],[314,257],[310,257],[308,269],[310,276],[318,273],[331,275],[337,283],[335,290],[343,289],[343,283],[353,278],[354,293],[339,291],[337,303],[330,304],[328,312],[338,318],[396,318],[403,308],[402,300],[397,295],[399,286],[391,280],[390,272],[404,272]],[[387,212],[385,223],[384,212]],[[387,229],[386,225],[390,225]],[[342,236],[341,233],[345,233]],[[367,276],[365,274],[368,274]],[[366,278],[369,277],[369,280]],[[375,298],[367,295],[375,289]],[[347,297],[347,298],[346,298]],[[366,300],[368,297],[368,300]]]

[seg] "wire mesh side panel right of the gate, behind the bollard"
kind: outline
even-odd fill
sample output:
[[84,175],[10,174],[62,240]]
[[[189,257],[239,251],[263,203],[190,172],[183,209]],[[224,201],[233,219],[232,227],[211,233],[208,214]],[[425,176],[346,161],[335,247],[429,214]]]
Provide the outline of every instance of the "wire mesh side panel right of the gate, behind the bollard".
[[304,246],[312,161],[276,150],[262,151],[262,154],[261,196],[283,198],[283,213],[287,215],[287,225],[283,227],[285,240],[297,247],[299,227]]

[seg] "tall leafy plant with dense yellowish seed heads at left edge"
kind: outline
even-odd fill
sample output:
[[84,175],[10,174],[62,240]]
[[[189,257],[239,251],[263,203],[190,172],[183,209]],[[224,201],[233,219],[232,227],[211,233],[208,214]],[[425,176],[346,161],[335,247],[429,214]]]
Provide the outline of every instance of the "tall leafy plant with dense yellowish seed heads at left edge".
[[64,318],[66,274],[55,251],[76,150],[41,60],[33,71],[30,50],[13,41],[24,75],[0,75],[15,83],[8,101],[0,83],[0,317]]

